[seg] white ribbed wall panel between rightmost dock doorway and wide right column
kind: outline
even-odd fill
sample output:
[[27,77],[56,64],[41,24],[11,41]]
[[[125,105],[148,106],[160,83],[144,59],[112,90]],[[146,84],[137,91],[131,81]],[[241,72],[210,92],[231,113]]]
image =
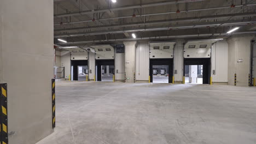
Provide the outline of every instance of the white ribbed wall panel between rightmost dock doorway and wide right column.
[[[228,50],[229,45],[226,40],[218,41],[212,46],[212,81],[214,82],[228,82]],[[213,74],[215,70],[215,74]]]

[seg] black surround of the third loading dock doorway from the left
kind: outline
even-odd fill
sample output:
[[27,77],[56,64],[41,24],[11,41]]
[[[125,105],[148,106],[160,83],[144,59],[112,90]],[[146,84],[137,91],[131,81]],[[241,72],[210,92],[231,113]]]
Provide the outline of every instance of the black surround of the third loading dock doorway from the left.
[[[173,58],[150,59],[149,63],[150,82],[153,82],[153,73],[156,73],[156,66],[159,65],[159,68],[162,66],[162,73],[164,73],[164,67],[166,68],[165,74],[168,74],[168,83],[172,83]],[[158,73],[161,75],[161,68]]]

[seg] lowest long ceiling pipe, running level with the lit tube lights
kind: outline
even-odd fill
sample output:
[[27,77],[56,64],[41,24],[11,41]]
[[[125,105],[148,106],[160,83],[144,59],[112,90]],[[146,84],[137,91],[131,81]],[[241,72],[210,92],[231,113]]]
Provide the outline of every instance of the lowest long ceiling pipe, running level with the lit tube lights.
[[239,34],[256,34],[256,31],[248,32],[236,32],[231,34],[226,33],[209,33],[209,34],[190,34],[190,35],[169,35],[169,36],[160,36],[160,37],[145,37],[145,38],[127,38],[127,39],[109,39],[109,40],[89,40],[89,41],[74,41],[68,42],[64,45],[69,44],[88,44],[88,43],[106,43],[106,42],[119,42],[119,41],[139,41],[139,40],[155,40],[155,39],[179,39],[179,38],[193,38],[193,37],[226,37],[230,35],[239,35]]

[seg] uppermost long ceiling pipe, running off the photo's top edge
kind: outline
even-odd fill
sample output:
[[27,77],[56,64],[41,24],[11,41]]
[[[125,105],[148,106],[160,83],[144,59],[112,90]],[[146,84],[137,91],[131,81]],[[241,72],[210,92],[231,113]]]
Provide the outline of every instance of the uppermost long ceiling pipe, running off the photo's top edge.
[[118,8],[93,9],[93,10],[85,10],[85,11],[80,11],[80,12],[75,12],[75,13],[57,14],[57,15],[54,15],[54,17],[85,15],[85,14],[93,14],[93,13],[103,13],[103,12],[107,12],[107,11],[147,8],[147,7],[155,7],[155,6],[160,6],[160,5],[189,3],[189,2],[201,2],[201,1],[205,1],[205,0],[183,0],[183,1],[172,1],[172,2],[170,2],[170,1],[153,2],[153,3],[142,4],[142,5],[126,5],[126,6],[118,7]]

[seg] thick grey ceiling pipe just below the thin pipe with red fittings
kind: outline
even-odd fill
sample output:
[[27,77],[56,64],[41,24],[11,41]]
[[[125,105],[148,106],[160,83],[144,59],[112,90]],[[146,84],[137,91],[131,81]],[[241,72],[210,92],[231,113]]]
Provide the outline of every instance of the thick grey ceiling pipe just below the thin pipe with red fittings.
[[144,22],[133,22],[127,23],[124,25],[105,25],[105,26],[91,26],[91,27],[75,27],[75,28],[63,28],[63,29],[55,29],[55,32],[60,31],[73,31],[78,29],[91,29],[91,28],[114,28],[114,27],[131,27],[131,26],[144,26],[144,25],[152,25],[152,24],[159,24],[159,23],[169,23],[169,22],[179,22],[179,21],[202,21],[202,20],[211,20],[217,19],[219,17],[249,17],[249,16],[256,16],[256,12],[251,13],[235,13],[235,14],[223,14],[223,15],[208,15],[208,16],[199,16],[199,17],[184,17],[178,19],[168,19],[168,20],[158,20],[158,21],[148,21]]

